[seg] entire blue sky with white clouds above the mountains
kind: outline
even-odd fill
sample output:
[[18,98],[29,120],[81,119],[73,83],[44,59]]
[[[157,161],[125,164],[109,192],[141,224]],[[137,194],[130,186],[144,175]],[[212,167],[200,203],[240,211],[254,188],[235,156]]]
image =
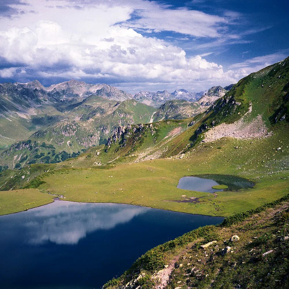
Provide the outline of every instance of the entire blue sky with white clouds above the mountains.
[[289,56],[288,11],[285,0],[0,0],[0,82],[226,86]]

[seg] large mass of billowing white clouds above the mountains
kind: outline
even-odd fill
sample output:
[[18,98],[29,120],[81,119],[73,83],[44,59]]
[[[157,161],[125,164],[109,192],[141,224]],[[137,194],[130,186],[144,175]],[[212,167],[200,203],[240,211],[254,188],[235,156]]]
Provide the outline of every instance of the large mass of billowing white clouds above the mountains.
[[[6,65],[2,78],[89,79],[132,92],[149,87],[204,89],[236,82],[246,71],[237,66],[224,71],[204,58],[209,53],[188,57],[178,45],[141,32],[221,39],[234,13],[220,17],[145,0],[26,1],[23,11],[36,14],[0,20],[0,57]],[[9,7],[18,6],[16,2]]]

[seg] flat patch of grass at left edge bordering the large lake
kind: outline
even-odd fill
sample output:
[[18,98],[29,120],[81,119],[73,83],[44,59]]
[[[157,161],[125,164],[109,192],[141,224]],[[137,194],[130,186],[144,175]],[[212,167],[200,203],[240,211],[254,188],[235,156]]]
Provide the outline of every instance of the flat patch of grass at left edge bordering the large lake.
[[0,191],[0,215],[26,211],[53,202],[55,196],[37,189]]

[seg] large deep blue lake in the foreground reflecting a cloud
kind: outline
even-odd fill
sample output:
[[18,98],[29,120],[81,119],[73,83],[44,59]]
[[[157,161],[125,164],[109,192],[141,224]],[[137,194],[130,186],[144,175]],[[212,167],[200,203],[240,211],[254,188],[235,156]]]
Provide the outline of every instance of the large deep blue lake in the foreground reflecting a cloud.
[[1,289],[99,289],[147,250],[220,217],[55,201],[0,216]]

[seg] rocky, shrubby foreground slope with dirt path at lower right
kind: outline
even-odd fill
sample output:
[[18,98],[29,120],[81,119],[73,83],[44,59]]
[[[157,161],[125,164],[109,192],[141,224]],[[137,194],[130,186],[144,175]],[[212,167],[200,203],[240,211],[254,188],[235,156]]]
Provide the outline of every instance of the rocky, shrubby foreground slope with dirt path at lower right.
[[[127,283],[132,289],[289,288],[289,240],[282,240],[289,233],[288,199],[289,195],[159,245],[104,288],[125,288]],[[234,235],[240,240],[232,242]],[[213,240],[210,247],[200,247]],[[223,254],[226,246],[231,252]],[[162,270],[164,264],[168,268]],[[143,279],[136,281],[140,274]]]

